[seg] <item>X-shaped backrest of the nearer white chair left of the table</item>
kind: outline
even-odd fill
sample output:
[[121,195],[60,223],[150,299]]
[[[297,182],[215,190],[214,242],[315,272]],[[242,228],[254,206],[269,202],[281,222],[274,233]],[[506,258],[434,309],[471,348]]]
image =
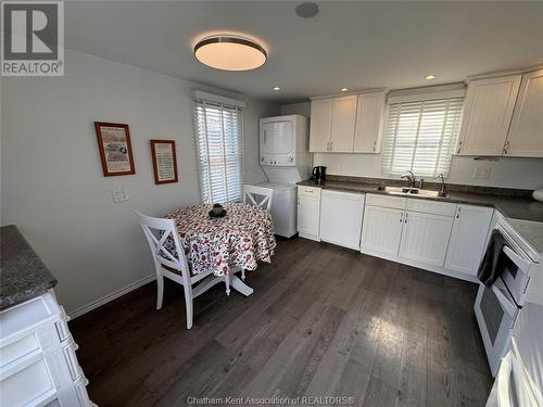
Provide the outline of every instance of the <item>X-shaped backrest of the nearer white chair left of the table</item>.
[[[176,270],[189,272],[185,251],[173,219],[153,218],[136,211],[143,229],[153,259]],[[185,274],[184,272],[184,274]]]

